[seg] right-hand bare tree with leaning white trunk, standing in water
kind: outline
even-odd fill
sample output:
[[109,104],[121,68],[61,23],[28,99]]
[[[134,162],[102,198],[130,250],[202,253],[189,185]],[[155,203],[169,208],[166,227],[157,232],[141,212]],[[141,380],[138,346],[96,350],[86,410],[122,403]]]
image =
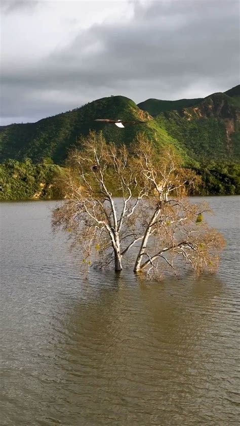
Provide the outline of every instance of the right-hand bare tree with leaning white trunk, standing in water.
[[207,203],[196,205],[187,198],[187,191],[199,183],[199,177],[181,166],[181,158],[172,149],[157,154],[143,135],[134,150],[148,182],[148,215],[134,271],[159,277],[167,266],[176,274],[179,258],[196,274],[216,269],[224,239],[203,220],[203,213],[211,212]]

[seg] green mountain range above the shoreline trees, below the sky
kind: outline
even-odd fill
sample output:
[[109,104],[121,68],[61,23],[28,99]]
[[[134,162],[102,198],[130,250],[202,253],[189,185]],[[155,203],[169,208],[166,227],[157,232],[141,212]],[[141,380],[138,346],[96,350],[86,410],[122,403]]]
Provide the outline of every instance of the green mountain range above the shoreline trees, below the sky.
[[[108,141],[127,145],[144,131],[156,144],[174,145],[188,165],[210,159],[238,161],[239,102],[240,86],[204,99],[148,100],[138,105],[123,96],[102,98],[36,123],[1,126],[0,161],[29,157],[36,163],[51,158],[63,164],[79,135],[90,129],[101,130]],[[141,119],[145,124],[119,129],[96,118]]]

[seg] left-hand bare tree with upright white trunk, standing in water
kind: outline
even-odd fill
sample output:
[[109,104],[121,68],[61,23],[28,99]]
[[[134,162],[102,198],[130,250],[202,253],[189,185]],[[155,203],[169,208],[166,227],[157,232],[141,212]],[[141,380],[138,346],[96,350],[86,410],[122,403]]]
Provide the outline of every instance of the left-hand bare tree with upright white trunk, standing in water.
[[102,134],[91,132],[81,146],[69,156],[63,184],[68,200],[54,210],[53,226],[70,232],[84,263],[90,265],[98,253],[100,267],[114,261],[121,271],[123,256],[142,238],[136,212],[147,189],[138,184],[138,168],[125,145],[106,144]]

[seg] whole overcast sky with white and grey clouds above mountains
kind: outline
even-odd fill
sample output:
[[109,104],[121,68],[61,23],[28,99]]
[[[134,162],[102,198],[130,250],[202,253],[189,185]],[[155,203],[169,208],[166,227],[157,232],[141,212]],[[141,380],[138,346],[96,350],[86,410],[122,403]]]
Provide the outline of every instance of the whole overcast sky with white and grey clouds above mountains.
[[2,0],[1,123],[238,84],[238,0]]

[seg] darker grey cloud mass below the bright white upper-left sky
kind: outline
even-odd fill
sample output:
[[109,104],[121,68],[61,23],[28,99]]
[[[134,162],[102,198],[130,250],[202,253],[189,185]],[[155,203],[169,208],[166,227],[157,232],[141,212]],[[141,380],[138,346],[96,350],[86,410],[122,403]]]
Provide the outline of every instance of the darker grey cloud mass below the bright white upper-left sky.
[[130,21],[94,25],[39,64],[4,69],[4,115],[43,117],[111,94],[140,102],[227,90],[239,74],[238,18],[235,0],[137,3]]

